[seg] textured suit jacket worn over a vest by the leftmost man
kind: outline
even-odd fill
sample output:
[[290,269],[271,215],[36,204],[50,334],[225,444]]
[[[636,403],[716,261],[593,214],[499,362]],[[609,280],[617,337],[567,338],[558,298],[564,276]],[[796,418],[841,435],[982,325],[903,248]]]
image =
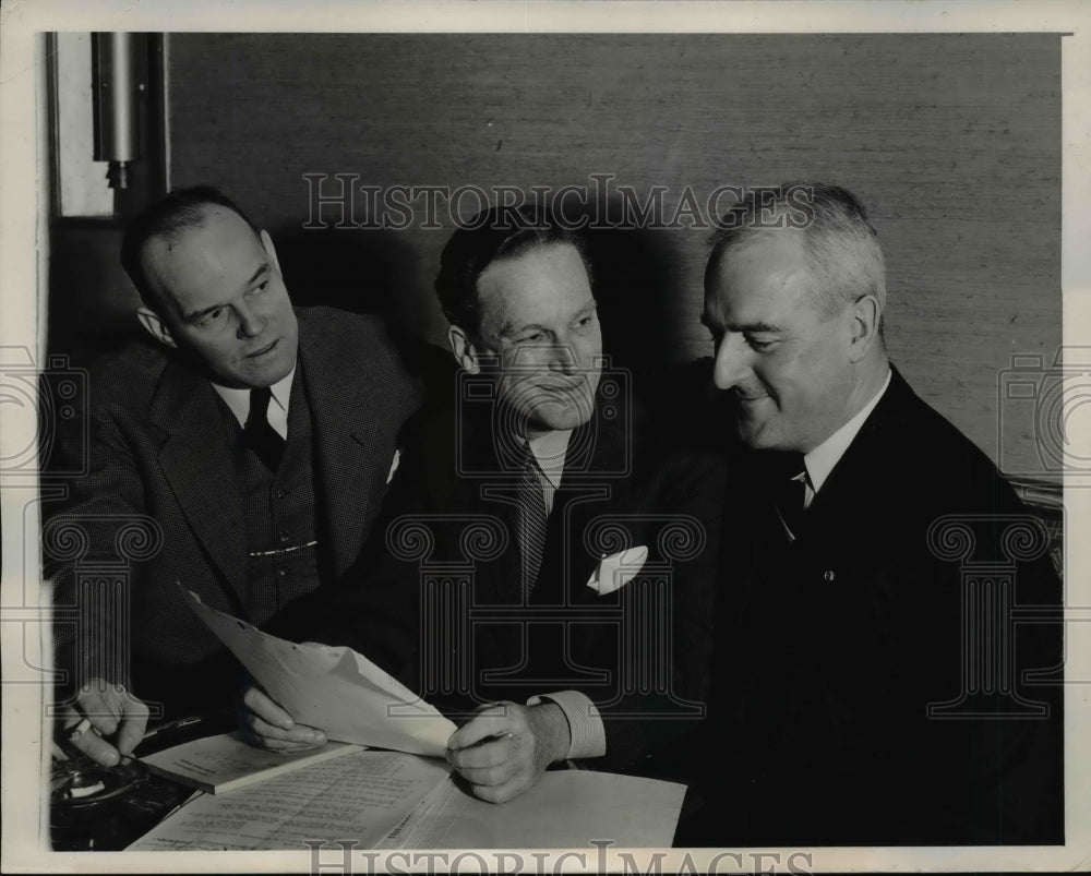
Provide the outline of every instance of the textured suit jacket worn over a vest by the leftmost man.
[[[311,412],[320,578],[328,583],[360,552],[417,393],[376,319],[327,308],[297,315],[296,380]],[[137,696],[164,703],[168,712],[206,709],[223,700],[238,671],[184,604],[176,581],[208,605],[247,615],[243,505],[220,401],[207,379],[147,345],[101,362],[89,392],[89,471],[72,483],[71,502],[56,521],[74,521],[87,543],[79,556],[53,551],[63,561],[53,569],[58,615],[76,605],[81,567],[119,559],[123,539],[116,539],[124,520],[151,518],[161,545],[153,540],[149,550],[120,557],[140,559],[130,566],[128,600],[94,621],[111,624],[99,645],[128,658]],[[48,560],[57,539],[48,527],[46,532]],[[84,629],[73,646],[75,625],[63,622],[57,633],[71,668],[92,637]]]

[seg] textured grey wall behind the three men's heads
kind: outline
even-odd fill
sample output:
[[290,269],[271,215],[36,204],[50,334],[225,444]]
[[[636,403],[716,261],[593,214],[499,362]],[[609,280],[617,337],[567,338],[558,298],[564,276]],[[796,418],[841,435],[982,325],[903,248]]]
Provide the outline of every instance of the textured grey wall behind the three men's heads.
[[[172,35],[172,184],[251,209],[297,297],[386,304],[439,340],[446,203],[441,229],[304,230],[304,173],[452,189],[610,173],[642,197],[667,187],[667,218],[686,187],[703,209],[718,185],[838,182],[886,248],[894,360],[1009,471],[1033,471],[1029,421],[998,443],[997,374],[1060,343],[1059,50],[1042,34]],[[603,238],[599,280],[657,317],[615,339],[708,353],[707,232]]]

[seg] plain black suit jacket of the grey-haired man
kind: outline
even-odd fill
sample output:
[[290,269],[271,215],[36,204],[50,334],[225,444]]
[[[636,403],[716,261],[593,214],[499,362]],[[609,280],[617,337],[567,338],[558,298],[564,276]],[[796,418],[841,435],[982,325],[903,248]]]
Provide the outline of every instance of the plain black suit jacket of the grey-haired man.
[[[1060,584],[1043,539],[1004,535],[1039,532],[993,464],[897,371],[791,544],[762,460],[728,488],[705,812],[680,840],[1063,842]],[[980,674],[990,648],[1006,675]]]

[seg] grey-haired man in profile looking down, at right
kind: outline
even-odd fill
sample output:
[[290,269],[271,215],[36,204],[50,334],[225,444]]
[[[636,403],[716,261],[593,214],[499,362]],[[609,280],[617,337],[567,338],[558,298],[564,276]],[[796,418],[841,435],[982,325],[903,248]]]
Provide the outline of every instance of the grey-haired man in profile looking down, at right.
[[[682,839],[1063,842],[1046,540],[890,365],[864,207],[829,185],[762,195],[724,217],[705,274],[714,381],[743,449],[723,512],[706,811]],[[991,565],[964,583],[959,556]],[[1035,623],[983,614],[990,600]]]

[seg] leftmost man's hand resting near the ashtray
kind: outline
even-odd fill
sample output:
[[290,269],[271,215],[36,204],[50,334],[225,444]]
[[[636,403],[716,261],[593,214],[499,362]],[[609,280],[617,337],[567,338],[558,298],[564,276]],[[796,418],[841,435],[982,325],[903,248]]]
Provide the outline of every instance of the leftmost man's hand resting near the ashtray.
[[116,767],[144,739],[148,709],[123,685],[91,679],[61,718],[61,737],[104,767]]

